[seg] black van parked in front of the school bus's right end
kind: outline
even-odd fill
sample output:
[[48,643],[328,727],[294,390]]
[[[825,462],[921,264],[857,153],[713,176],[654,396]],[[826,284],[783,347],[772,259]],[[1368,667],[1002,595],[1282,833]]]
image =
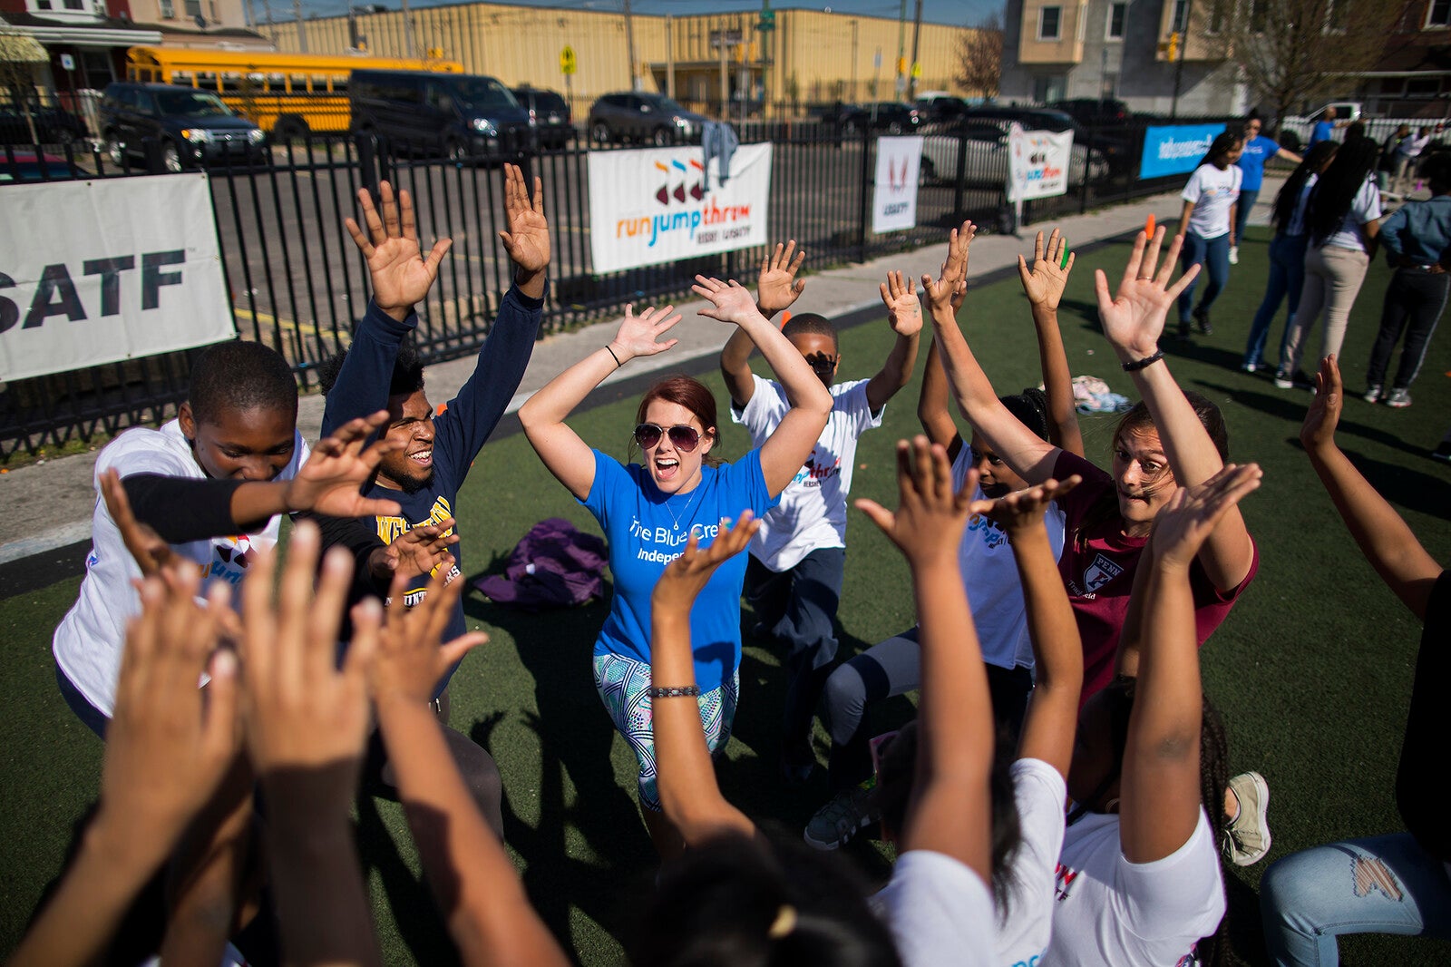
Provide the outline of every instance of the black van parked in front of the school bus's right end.
[[483,74],[353,71],[353,131],[398,154],[453,161],[509,157],[530,144],[530,116],[508,87]]

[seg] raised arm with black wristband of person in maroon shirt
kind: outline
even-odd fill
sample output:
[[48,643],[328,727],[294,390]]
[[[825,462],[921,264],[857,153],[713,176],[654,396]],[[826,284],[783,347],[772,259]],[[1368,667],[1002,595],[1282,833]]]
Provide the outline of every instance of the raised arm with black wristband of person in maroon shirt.
[[[1164,332],[1170,306],[1199,273],[1199,266],[1194,266],[1170,286],[1184,240],[1183,237],[1174,240],[1164,264],[1159,266],[1162,241],[1162,228],[1154,232],[1152,241],[1139,232],[1133,254],[1123,269],[1119,293],[1113,299],[1109,296],[1109,277],[1101,269],[1094,273],[1104,335],[1109,337],[1119,362],[1126,366],[1139,366],[1159,351],[1159,335]],[[1194,407],[1174,382],[1168,360],[1159,357],[1148,366],[1135,369],[1133,385],[1138,386],[1154,417],[1174,481],[1180,486],[1194,486],[1214,476],[1225,462]],[[1254,563],[1254,546],[1245,529],[1245,518],[1236,507],[1230,505],[1219,518],[1219,526],[1199,552],[1199,560],[1204,574],[1220,591],[1238,588],[1244,582]]]

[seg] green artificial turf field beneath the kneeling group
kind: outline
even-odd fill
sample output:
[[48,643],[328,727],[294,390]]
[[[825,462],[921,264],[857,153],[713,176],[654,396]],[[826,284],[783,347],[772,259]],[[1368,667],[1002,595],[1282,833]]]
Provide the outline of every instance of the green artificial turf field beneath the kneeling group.
[[[1165,346],[1180,383],[1225,409],[1232,459],[1258,460],[1265,469],[1264,486],[1244,505],[1259,574],[1204,648],[1203,666],[1206,690],[1229,726],[1232,768],[1255,768],[1270,781],[1274,860],[1400,828],[1392,790],[1421,632],[1361,558],[1304,460],[1297,430],[1309,393],[1278,391],[1238,370],[1267,274],[1267,244],[1264,229],[1251,231],[1242,244],[1241,264],[1214,308],[1216,334]],[[1093,269],[1107,269],[1116,280],[1126,251],[1114,244],[1080,253],[1061,324],[1072,372],[1100,376],[1132,396],[1129,378],[1093,328]],[[1426,549],[1451,560],[1451,469],[1425,456],[1451,425],[1451,347],[1445,338],[1432,344],[1410,409],[1357,398],[1387,279],[1384,266],[1371,269],[1351,318],[1344,350],[1351,399],[1339,440]],[[998,392],[1039,382],[1033,328],[1016,280],[974,287],[962,322]],[[685,322],[692,324],[715,325]],[[1271,346],[1281,327],[1283,312]],[[891,343],[882,321],[843,332],[840,378],[869,376]],[[1318,346],[1316,334],[1312,353]],[[724,402],[714,369],[705,382]],[[855,495],[894,499],[892,446],[917,430],[917,385],[888,407],[879,431],[862,438]],[[622,457],[636,396],[599,396],[572,425]],[[1106,465],[1111,427],[1113,417],[1084,418],[1090,459]],[[740,454],[744,431],[721,430],[718,453]],[[522,436],[490,443],[459,499],[464,572],[472,579],[501,568],[524,531],[551,515],[598,530]],[[914,621],[901,559],[855,513],[849,544],[843,658]],[[0,951],[15,947],[41,891],[61,870],[73,825],[97,787],[102,746],[62,704],[49,659],[51,629],[75,587],[70,579],[0,601],[0,701],[7,710],[0,720]],[[499,762],[509,848],[540,913],[580,963],[620,963],[621,938],[653,889],[656,862],[634,804],[634,759],[611,729],[591,678],[591,646],[605,605],[530,616],[474,592],[466,610],[470,626],[486,629],[492,640],[454,678],[453,723]],[[752,623],[744,614],[744,627]],[[826,800],[827,786],[820,770],[802,788],[776,780],[782,693],[779,662],[747,639],[741,704],[720,778],[750,816],[798,835]],[[871,714],[885,730],[910,714],[910,703],[884,703]],[[398,804],[363,797],[358,829],[386,961],[450,963]],[[887,846],[859,838],[847,852],[872,876],[885,874]],[[1236,952],[1255,964],[1264,963],[1255,889],[1265,865],[1233,870],[1228,884]],[[1451,945],[1407,938],[1351,938],[1342,954],[1347,963],[1451,963]]]

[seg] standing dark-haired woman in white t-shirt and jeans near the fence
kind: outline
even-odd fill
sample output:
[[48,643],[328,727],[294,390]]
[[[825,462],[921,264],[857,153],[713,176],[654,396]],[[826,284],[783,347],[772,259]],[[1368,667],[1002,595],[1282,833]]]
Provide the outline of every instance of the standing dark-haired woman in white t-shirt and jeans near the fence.
[[[1229,279],[1229,250],[1235,245],[1235,203],[1239,200],[1239,183],[1244,171],[1235,166],[1245,150],[1245,135],[1239,131],[1225,131],[1209,145],[1209,154],[1184,186],[1184,211],[1180,213],[1178,232],[1184,237],[1181,258],[1184,272],[1190,266],[1204,266],[1209,285],[1194,306],[1196,277],[1180,296],[1180,335],[1190,334],[1190,318],[1199,331],[1209,335],[1214,328],[1209,324],[1209,309],[1225,289]],[[1193,311],[1191,311],[1193,309]]]

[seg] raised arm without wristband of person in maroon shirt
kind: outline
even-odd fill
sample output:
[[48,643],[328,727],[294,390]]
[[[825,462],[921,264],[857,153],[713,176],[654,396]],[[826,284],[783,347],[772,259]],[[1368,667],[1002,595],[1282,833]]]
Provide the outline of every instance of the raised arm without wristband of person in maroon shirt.
[[972,222],[963,222],[961,231],[953,229],[942,277],[936,282],[930,276],[921,279],[927,289],[937,351],[942,354],[942,364],[958,398],[958,407],[972,424],[972,430],[982,434],[1014,473],[1030,484],[1042,484],[1053,475],[1058,447],[1039,438],[998,402],[992,383],[988,382],[987,373],[968,348],[968,340],[958,328],[953,296],[959,273],[966,272],[966,245],[975,231]]

